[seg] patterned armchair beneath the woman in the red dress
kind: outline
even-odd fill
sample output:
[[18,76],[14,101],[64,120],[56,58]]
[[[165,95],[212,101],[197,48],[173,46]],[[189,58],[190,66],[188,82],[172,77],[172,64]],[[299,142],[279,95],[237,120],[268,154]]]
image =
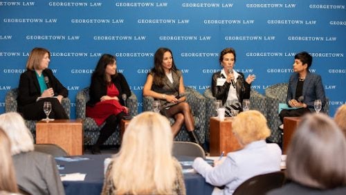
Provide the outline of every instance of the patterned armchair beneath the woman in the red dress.
[[[100,135],[100,129],[103,127],[104,124],[102,124],[100,127],[96,124],[95,120],[92,118],[86,117],[85,111],[86,111],[86,102],[89,101],[89,87],[86,87],[82,89],[82,91],[79,91],[77,93],[76,102],[75,102],[75,112],[76,112],[76,118],[83,120],[83,130],[84,130],[84,136],[90,138],[88,142],[85,142],[85,145],[94,145],[95,142],[98,140],[98,136]],[[131,91],[131,95],[127,98],[126,104],[129,108],[129,115],[135,116],[138,113],[138,105],[137,105],[137,97],[136,95]],[[120,125],[119,125],[120,126]],[[120,136],[120,127],[116,127],[116,132],[111,135],[111,137],[108,138],[106,142],[104,142],[104,145],[120,145],[121,143],[121,136]]]

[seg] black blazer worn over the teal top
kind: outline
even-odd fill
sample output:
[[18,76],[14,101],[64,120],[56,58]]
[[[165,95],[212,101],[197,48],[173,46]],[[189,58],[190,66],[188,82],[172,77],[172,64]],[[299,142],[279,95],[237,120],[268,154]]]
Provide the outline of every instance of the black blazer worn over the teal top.
[[[51,69],[44,69],[42,74],[48,77],[55,96],[62,95],[67,97],[69,95],[69,91],[57,80]],[[39,82],[35,71],[27,70],[21,74],[18,90],[17,102],[19,111],[21,107],[36,102],[37,97],[41,96],[41,90],[39,89]]]

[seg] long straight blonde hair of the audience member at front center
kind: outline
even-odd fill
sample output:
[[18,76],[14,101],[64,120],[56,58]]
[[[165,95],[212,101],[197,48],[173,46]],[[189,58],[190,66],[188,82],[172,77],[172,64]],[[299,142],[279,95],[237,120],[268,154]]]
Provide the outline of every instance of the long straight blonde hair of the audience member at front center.
[[111,176],[117,194],[172,194],[176,169],[170,122],[158,113],[132,119],[113,157]]

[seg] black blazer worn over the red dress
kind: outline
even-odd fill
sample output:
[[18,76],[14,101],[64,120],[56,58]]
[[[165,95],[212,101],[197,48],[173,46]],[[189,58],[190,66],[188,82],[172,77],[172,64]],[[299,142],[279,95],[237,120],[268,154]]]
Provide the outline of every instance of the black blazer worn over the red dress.
[[[129,84],[121,73],[111,80],[113,84],[116,85],[116,88],[119,91],[118,99],[120,104],[125,105],[122,100],[122,94],[126,94],[126,97],[131,95],[131,91],[129,89]],[[107,95],[107,83],[104,82],[102,77],[92,77],[91,84],[89,89],[90,100],[86,103],[88,106],[94,106],[97,102],[100,102],[102,96]]]

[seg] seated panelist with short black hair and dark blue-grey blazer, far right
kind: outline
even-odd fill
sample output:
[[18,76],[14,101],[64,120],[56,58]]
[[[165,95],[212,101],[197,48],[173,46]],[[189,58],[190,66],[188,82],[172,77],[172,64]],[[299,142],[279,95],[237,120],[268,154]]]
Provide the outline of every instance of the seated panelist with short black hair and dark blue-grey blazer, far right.
[[[321,100],[322,109],[326,104],[325,89],[320,75],[311,73],[312,56],[303,51],[294,56],[293,75],[289,78],[286,104],[295,109],[282,109],[280,120],[286,116],[302,116],[305,113],[315,111],[313,102]],[[280,129],[284,129],[283,124]]]

